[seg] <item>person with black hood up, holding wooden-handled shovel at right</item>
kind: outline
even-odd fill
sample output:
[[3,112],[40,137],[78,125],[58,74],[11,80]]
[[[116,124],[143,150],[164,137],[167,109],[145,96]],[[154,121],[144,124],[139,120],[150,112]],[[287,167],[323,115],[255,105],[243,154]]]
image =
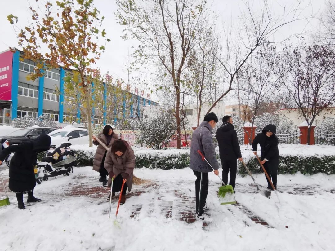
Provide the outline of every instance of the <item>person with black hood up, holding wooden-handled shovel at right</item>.
[[[262,133],[257,134],[252,142],[252,150],[254,154],[257,154],[257,145],[261,146],[261,163],[264,165],[265,171],[272,179],[272,183],[275,189],[277,189],[277,171],[279,166],[279,149],[278,149],[278,138],[276,136],[276,126],[268,124],[262,130]],[[266,177],[266,176],[265,176]],[[269,180],[268,189],[272,189]]]

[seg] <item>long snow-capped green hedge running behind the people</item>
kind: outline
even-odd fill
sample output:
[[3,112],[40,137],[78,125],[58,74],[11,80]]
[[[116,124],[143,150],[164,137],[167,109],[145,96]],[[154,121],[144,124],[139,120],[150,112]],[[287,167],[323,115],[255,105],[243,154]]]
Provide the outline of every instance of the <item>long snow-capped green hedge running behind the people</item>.
[[[78,165],[91,166],[96,151],[96,146],[75,145],[72,149],[78,155]],[[217,158],[218,156],[218,148]],[[241,146],[242,156],[248,168],[253,173],[259,173],[260,167],[255,155],[252,153],[251,146]],[[189,149],[169,149],[169,150],[150,150],[134,149],[136,157],[136,168],[160,168],[160,169],[181,169],[190,164]],[[307,146],[307,145],[279,145],[280,164],[279,173],[303,174],[327,173],[335,174],[335,146]],[[260,155],[260,152],[259,152]],[[219,163],[220,160],[219,160]],[[246,175],[247,171],[239,162],[238,173]]]

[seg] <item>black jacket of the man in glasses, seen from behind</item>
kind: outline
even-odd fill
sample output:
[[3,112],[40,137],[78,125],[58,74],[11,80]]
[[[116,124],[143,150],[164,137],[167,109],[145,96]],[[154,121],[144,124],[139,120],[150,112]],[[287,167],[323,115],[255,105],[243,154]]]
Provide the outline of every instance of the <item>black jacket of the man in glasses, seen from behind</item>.
[[216,130],[215,137],[219,143],[221,160],[242,158],[239,139],[231,123],[223,122],[222,126]]

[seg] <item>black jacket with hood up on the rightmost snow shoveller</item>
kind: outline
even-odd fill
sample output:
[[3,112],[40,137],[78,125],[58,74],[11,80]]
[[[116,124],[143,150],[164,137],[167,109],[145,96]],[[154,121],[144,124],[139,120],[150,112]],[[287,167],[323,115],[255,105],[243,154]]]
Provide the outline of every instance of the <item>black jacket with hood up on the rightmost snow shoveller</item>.
[[[272,132],[271,137],[266,136],[266,132]],[[261,146],[261,160],[279,159],[278,138],[276,136],[276,126],[268,124],[261,133],[257,134],[252,142],[252,150],[257,151],[257,145]]]

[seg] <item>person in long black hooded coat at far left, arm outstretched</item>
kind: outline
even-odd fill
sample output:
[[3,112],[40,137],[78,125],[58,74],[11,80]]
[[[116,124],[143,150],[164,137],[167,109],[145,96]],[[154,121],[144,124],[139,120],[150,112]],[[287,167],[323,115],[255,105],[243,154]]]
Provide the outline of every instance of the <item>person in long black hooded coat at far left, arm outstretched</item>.
[[9,146],[0,153],[1,165],[7,155],[14,152],[9,164],[8,187],[15,192],[19,209],[25,209],[23,193],[28,193],[27,202],[41,201],[41,199],[34,197],[34,187],[36,186],[34,166],[36,165],[37,154],[49,150],[50,144],[50,136],[41,135],[34,140]]

